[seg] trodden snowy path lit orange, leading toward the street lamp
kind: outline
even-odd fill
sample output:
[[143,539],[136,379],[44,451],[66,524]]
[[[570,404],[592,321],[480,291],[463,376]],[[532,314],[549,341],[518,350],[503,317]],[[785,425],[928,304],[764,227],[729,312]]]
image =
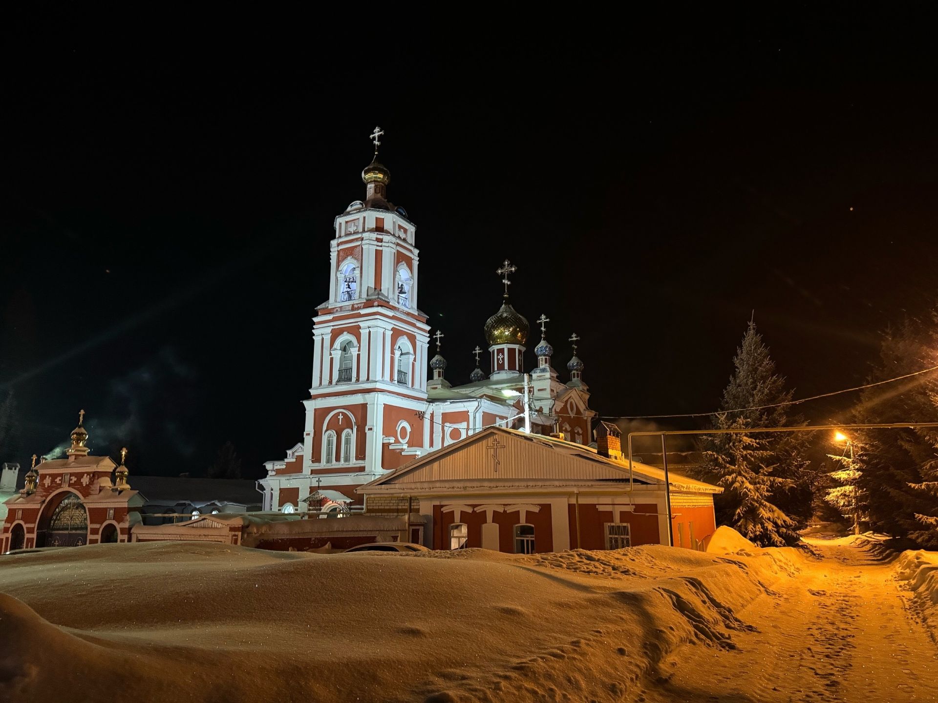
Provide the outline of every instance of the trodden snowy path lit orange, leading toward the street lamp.
[[886,561],[857,546],[813,543],[823,556],[736,615],[758,628],[733,651],[685,646],[636,700],[938,700],[938,647],[907,611]]

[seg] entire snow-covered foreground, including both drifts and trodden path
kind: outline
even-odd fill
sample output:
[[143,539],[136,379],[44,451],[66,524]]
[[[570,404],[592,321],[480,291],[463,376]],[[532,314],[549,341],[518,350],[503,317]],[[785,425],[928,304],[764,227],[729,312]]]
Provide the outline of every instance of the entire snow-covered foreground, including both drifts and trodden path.
[[938,698],[938,555],[711,547],[0,558],[0,700]]

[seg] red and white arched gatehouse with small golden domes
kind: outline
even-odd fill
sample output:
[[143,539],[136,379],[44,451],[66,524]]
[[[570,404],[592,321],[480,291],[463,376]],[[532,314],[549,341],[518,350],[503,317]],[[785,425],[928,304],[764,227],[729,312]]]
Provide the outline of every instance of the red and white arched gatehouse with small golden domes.
[[25,487],[6,501],[0,553],[130,541],[144,498],[130,488],[123,458],[118,466],[110,456],[88,453],[83,414],[71,431],[66,458],[36,465],[33,456]]

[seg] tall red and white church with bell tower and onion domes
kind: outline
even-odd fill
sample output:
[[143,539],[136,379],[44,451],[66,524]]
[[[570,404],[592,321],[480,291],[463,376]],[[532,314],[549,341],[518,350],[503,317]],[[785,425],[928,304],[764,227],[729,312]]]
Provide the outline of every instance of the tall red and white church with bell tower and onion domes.
[[259,482],[265,510],[348,513],[362,500],[358,486],[493,426],[590,441],[596,412],[576,355],[580,337],[568,339],[568,380],[561,381],[547,340],[550,321],[541,315],[537,365],[525,368],[531,329],[508,297],[508,277],[516,271],[510,262],[496,271],[504,286],[501,307],[482,330],[489,373],[477,346],[469,382],[446,379],[444,335],[437,330],[431,337],[418,307],[416,226],[388,200],[391,174],[378,161],[383,134],[378,127],[371,134],[374,157],[361,174],[365,199],[333,223],[329,298],[313,318],[306,426],[285,458],[265,463],[267,476]]

